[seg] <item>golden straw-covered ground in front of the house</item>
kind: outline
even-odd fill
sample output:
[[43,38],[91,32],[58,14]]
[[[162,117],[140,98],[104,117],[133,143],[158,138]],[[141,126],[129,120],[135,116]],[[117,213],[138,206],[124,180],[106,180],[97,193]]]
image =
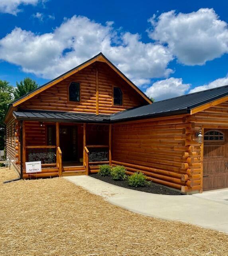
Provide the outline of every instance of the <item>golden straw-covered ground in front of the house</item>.
[[0,168],[1,256],[228,255],[227,234],[129,212],[63,178],[2,184],[15,177]]

